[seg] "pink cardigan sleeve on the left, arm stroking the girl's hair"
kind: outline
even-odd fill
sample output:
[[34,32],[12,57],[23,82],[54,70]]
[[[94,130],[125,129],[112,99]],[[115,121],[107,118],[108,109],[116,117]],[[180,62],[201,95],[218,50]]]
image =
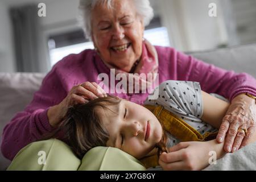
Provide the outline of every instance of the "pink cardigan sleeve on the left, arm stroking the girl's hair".
[[47,111],[65,98],[65,91],[56,67],[44,78],[42,86],[26,109],[15,115],[2,133],[2,154],[12,160],[20,149],[54,131],[49,124]]

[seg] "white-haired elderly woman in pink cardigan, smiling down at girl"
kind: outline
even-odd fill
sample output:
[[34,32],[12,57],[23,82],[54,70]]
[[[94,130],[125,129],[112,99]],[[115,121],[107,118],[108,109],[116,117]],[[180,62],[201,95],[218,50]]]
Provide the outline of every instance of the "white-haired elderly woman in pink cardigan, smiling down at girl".
[[[127,77],[127,73],[158,73],[159,83],[200,82],[205,92],[217,93],[231,102],[217,135],[218,142],[225,141],[226,152],[247,144],[256,122],[253,77],[214,67],[171,47],[152,46],[143,39],[144,27],[153,17],[148,0],[81,0],[80,9],[86,35],[95,49],[69,55],[52,68],[30,105],[3,130],[1,148],[6,158],[13,159],[22,147],[55,130],[69,106],[104,97],[106,93],[98,86],[102,81],[98,75],[105,73],[110,77],[113,70]],[[154,78],[139,81],[152,84]],[[143,104],[148,93],[142,92],[142,88],[139,91],[114,94]]]

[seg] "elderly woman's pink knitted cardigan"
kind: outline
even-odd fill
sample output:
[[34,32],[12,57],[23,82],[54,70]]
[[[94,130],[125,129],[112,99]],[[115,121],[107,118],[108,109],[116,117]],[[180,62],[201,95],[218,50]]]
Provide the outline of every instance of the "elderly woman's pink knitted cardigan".
[[[202,90],[217,93],[232,100],[238,94],[248,92],[256,96],[256,80],[246,73],[234,73],[206,64],[170,47],[155,47],[159,57],[159,83],[166,80],[200,82]],[[85,81],[97,81],[99,73],[110,74],[101,60],[96,60],[93,50],[69,55],[59,61],[44,78],[34,99],[5,126],[2,134],[2,154],[12,160],[27,144],[53,131],[47,118],[50,106],[59,104],[69,90]],[[147,94],[116,94],[127,100],[143,104]]]

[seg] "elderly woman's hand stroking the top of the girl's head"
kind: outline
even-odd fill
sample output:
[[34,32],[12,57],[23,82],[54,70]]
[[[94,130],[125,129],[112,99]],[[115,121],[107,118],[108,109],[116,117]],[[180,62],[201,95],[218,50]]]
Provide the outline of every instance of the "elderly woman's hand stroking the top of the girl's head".
[[76,104],[85,104],[90,100],[99,97],[106,97],[106,92],[96,84],[96,82],[84,82],[80,85],[73,86],[67,97],[59,105],[50,107],[48,110],[48,119],[51,126],[56,126],[68,111],[68,107]]

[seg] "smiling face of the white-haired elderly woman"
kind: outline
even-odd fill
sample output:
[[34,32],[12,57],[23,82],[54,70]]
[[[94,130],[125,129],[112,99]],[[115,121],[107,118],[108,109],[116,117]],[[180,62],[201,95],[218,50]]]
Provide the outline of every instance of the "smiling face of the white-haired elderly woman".
[[99,3],[92,11],[92,39],[101,59],[129,72],[142,54],[144,25],[130,0]]

